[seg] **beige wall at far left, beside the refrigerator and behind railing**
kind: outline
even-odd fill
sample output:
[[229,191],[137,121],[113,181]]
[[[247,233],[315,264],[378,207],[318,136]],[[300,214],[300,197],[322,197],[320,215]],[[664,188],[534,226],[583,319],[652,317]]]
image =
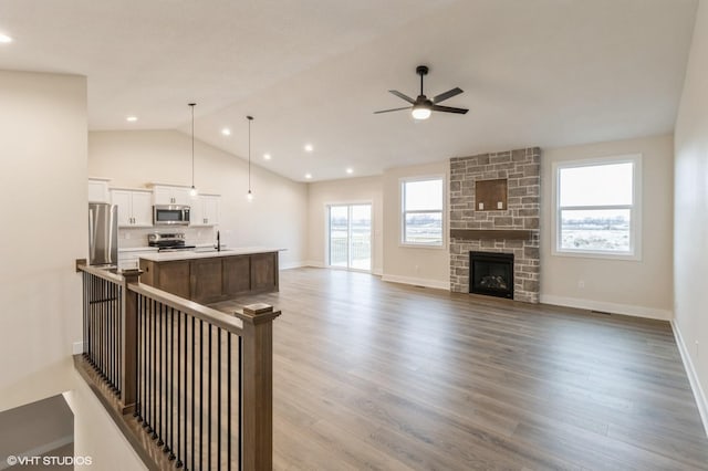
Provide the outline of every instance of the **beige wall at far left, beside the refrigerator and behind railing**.
[[74,261],[87,253],[86,78],[0,71],[0,104],[4,410],[72,387],[82,332]]

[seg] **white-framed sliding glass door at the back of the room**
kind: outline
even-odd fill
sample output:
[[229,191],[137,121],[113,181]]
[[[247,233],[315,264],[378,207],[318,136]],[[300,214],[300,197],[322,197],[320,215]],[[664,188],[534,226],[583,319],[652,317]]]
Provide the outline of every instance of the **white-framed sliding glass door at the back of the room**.
[[329,265],[372,270],[372,206],[327,207]]

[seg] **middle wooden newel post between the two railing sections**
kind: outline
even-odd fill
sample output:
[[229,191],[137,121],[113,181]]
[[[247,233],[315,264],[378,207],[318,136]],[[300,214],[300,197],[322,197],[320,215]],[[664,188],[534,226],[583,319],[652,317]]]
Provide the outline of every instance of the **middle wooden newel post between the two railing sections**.
[[121,338],[123,348],[123,362],[121,367],[121,401],[123,414],[133,412],[137,400],[137,293],[131,291],[128,285],[137,283],[140,279],[140,270],[123,272],[123,335]]

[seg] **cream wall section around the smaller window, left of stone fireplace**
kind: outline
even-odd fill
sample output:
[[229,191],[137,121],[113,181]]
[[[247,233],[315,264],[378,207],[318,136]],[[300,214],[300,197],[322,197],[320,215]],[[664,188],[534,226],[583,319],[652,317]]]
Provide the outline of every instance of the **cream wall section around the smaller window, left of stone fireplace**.
[[446,243],[442,249],[400,247],[400,179],[426,175],[445,175],[446,205],[449,205],[449,160],[392,168],[384,172],[384,280],[421,286],[450,289],[449,234],[446,207]]

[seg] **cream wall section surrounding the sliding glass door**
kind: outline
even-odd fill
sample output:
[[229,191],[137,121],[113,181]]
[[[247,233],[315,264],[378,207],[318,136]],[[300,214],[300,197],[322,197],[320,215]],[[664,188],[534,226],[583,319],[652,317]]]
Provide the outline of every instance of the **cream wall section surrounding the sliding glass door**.
[[309,191],[309,255],[308,264],[326,263],[326,206],[337,203],[372,203],[372,272],[381,274],[384,260],[384,197],[381,177],[352,178],[310,184]]

